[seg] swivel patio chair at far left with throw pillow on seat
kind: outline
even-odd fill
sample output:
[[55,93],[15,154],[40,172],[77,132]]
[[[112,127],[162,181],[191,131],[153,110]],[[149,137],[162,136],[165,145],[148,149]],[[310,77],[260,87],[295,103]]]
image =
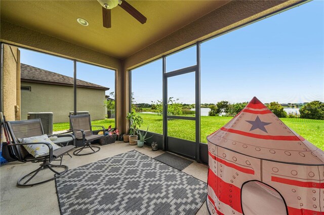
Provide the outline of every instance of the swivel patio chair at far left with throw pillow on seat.
[[[9,121],[6,122],[4,118],[1,120],[2,125],[5,129],[5,134],[8,138],[8,150],[9,154],[12,158],[19,160],[20,162],[32,162],[32,163],[43,163],[36,170],[28,173],[27,175],[18,179],[17,185],[22,187],[31,187],[38,184],[43,184],[45,182],[49,182],[58,177],[61,177],[66,173],[68,167],[65,165],[53,165],[51,162],[57,160],[57,158],[61,158],[64,154],[75,148],[74,145],[67,145],[64,147],[60,147],[56,150],[53,150],[53,146],[48,142],[30,142],[30,143],[19,143],[19,138],[29,138],[35,136],[44,135],[44,130],[42,126],[41,119],[33,119],[33,120],[22,120],[22,121]],[[74,138],[74,137],[73,137]],[[33,145],[33,144],[45,144],[49,147],[49,152],[47,154],[34,157],[31,155],[23,145]],[[64,171],[58,172],[54,170],[54,168],[64,168]],[[37,181],[35,183],[29,183],[31,180],[41,172],[41,170],[48,169],[54,173],[54,177],[50,179],[45,179],[43,181]],[[33,181],[32,181],[33,182]]]

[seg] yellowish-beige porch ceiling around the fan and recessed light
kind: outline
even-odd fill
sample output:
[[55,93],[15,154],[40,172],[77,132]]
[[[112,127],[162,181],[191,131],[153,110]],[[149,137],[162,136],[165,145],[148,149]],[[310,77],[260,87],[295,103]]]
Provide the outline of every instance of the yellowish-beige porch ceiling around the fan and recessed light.
[[[109,29],[102,26],[102,8],[96,0],[0,2],[3,20],[125,59],[228,1],[128,0],[147,17],[147,22],[142,25],[116,7],[111,11]],[[76,18],[86,19],[89,26],[78,24]]]

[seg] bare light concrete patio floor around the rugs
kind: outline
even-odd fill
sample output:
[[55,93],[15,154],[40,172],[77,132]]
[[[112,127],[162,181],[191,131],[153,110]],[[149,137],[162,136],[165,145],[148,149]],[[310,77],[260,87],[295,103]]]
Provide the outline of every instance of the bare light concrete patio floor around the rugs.
[[[85,156],[72,155],[72,158],[63,156],[63,165],[67,165],[69,169],[73,169],[134,149],[150,157],[164,153],[162,150],[152,151],[149,146],[139,148],[137,145],[129,145],[129,143],[122,141],[100,147],[101,150],[94,154]],[[52,164],[59,164],[59,161],[52,162]],[[38,165],[11,162],[0,168],[0,214],[60,214],[54,180],[27,188],[16,186],[18,178],[37,169],[39,167]],[[208,166],[204,164],[193,162],[183,172],[207,182]],[[201,206],[197,214],[209,214],[206,202]]]

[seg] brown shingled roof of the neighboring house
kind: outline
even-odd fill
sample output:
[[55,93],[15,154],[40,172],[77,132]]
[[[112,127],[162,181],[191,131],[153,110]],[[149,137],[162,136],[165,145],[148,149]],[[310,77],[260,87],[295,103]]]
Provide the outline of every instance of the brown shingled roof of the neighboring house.
[[[55,72],[39,69],[26,64],[20,64],[21,81],[41,84],[73,86],[73,78]],[[108,87],[76,79],[76,86],[83,88],[109,90]]]

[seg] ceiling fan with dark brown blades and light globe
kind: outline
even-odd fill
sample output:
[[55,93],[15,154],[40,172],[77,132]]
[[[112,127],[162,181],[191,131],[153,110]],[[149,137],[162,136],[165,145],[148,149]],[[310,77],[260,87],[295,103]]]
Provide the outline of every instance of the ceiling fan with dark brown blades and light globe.
[[111,9],[119,6],[123,8],[127,13],[132,15],[140,23],[144,24],[146,22],[146,17],[131,6],[125,0],[97,0],[102,6],[102,21],[103,27],[111,28]]

